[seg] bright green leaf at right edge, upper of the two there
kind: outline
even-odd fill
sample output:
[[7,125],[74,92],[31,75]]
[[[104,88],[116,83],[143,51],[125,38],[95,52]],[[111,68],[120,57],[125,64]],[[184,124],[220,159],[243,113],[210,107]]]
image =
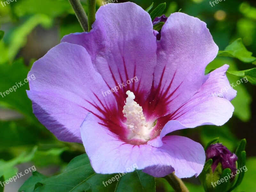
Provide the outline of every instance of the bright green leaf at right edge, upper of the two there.
[[247,51],[245,48],[241,38],[228,45],[224,51],[219,51],[218,56],[234,57],[244,63],[256,61],[256,58],[252,57],[252,52]]

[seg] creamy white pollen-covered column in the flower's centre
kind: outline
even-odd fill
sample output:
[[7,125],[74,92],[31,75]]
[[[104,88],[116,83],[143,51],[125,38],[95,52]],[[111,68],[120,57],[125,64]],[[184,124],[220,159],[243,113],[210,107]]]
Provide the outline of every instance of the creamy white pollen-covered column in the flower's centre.
[[128,95],[124,105],[123,114],[126,117],[127,128],[131,131],[128,139],[140,139],[148,141],[151,139],[150,132],[155,124],[146,122],[143,115],[142,107],[134,101],[135,95],[131,91],[127,91]]

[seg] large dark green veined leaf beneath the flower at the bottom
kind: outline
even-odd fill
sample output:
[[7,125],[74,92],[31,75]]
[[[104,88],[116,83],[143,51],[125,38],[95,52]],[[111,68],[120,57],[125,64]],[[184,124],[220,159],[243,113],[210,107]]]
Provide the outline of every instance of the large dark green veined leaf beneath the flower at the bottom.
[[[34,177],[34,176],[32,176]],[[106,183],[108,181],[108,183]],[[105,186],[103,184],[105,183]],[[126,174],[97,174],[93,171],[90,160],[86,154],[74,158],[63,173],[42,179],[30,179],[23,184],[19,191],[30,192],[29,188],[35,186],[35,192],[63,192],[74,191],[106,191],[106,192],[155,192],[155,178],[135,170]],[[26,188],[27,186],[27,188]]]

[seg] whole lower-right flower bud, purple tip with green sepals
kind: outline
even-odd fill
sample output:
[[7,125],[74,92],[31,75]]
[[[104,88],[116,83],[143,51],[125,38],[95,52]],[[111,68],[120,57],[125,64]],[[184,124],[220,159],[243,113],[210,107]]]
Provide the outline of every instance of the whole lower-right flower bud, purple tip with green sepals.
[[[216,143],[217,142],[217,143]],[[215,143],[215,144],[212,144]],[[227,192],[236,188],[243,180],[246,140],[241,140],[236,154],[218,143],[218,138],[210,141],[205,149],[206,162],[199,179],[207,192]]]

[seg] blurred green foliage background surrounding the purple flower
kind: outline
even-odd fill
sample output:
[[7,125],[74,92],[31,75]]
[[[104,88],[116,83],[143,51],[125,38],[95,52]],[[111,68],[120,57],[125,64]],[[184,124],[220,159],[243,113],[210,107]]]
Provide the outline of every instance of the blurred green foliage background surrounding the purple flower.
[[[85,0],[81,0],[87,9]],[[102,5],[97,0],[97,9]],[[118,3],[125,2],[118,0]],[[152,0],[132,1],[146,9]],[[166,2],[157,0],[154,8]],[[242,38],[246,48],[256,56],[256,2],[226,0],[215,6],[209,0],[175,0],[166,2],[165,15],[181,9],[207,23],[207,27],[220,50],[237,38]],[[132,14],[132,13],[131,13]],[[23,81],[33,62],[42,57],[60,39],[69,33],[82,32],[75,13],[68,0],[17,0],[0,5],[0,30],[4,31],[0,41],[0,92],[8,90],[16,82]],[[3,32],[0,32],[0,37]],[[217,57],[207,70],[230,65],[230,70],[245,70],[255,65],[243,63],[235,58]],[[239,77],[228,74],[230,83],[236,83]],[[201,126],[182,130],[176,134],[187,136],[205,145],[213,138],[232,152],[239,140],[246,138],[248,171],[242,184],[235,191],[256,191],[256,92],[254,85],[241,83],[234,87],[237,97],[232,101],[235,106],[233,117],[227,124]],[[59,173],[67,163],[84,153],[84,147],[76,143],[57,140],[32,113],[31,101],[26,91],[28,84],[18,88],[6,97],[0,96],[0,176],[13,176],[18,169],[23,171],[35,165],[37,171],[45,175]],[[5,192],[17,191],[27,177],[6,186]],[[204,191],[198,178],[185,180],[191,191]],[[172,191],[164,179],[156,179],[157,191]],[[1,191],[1,190],[0,190]]]

